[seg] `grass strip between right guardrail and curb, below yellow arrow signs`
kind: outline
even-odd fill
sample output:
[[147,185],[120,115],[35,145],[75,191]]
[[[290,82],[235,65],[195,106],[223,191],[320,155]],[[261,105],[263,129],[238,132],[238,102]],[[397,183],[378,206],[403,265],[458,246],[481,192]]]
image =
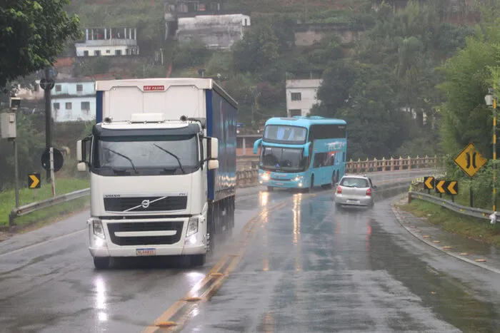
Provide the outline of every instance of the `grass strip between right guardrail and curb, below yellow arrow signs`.
[[500,246],[500,225],[491,225],[489,220],[460,215],[439,205],[418,199],[402,205],[401,209],[411,212],[416,217],[426,217],[429,222],[442,230]]

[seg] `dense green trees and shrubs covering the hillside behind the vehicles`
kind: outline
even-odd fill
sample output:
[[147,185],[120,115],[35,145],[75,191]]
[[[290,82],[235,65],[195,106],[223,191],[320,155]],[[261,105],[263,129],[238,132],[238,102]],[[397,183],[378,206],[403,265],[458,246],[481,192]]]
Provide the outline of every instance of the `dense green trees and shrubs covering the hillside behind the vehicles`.
[[[436,68],[474,34],[466,24],[446,22],[446,4],[409,1],[394,12],[390,4],[370,0],[227,1],[225,9],[252,16],[251,28],[230,52],[209,51],[196,40],[166,43],[163,1],[74,1],[71,10],[83,26],[137,26],[141,54],[166,50],[163,68],[145,67],[134,73],[138,77],[165,76],[170,64],[172,76],[198,76],[204,68],[206,76],[220,77],[239,101],[239,121],[247,127],[286,115],[287,77],[322,76],[321,103],[312,113],[348,121],[349,158],[357,159],[443,151],[437,110],[445,96],[436,89],[443,80]],[[469,17],[477,9],[467,4],[459,14]],[[347,44],[332,33],[296,47],[297,22],[344,23],[364,35]]]

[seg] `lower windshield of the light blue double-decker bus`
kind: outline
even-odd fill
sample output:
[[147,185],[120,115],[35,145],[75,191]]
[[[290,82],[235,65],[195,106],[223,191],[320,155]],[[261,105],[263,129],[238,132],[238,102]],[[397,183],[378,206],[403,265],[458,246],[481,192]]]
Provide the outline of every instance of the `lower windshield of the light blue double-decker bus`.
[[306,158],[303,148],[264,147],[261,151],[261,169],[271,171],[296,172],[304,171]]

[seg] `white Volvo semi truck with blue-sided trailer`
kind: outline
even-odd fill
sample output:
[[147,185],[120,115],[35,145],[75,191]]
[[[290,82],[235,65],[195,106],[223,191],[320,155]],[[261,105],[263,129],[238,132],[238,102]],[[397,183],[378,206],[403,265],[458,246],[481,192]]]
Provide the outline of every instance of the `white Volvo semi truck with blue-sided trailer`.
[[236,111],[210,78],[96,82],[96,125],[76,147],[96,268],[159,255],[204,265],[234,226]]

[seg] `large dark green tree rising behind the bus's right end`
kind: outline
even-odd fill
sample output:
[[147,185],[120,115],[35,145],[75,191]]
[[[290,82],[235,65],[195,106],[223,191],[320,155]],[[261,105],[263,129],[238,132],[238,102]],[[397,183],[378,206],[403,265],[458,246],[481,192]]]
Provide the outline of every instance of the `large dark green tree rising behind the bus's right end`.
[[394,103],[395,87],[386,66],[339,61],[325,73],[312,113],[347,122],[349,158],[389,158],[411,138],[413,123]]

